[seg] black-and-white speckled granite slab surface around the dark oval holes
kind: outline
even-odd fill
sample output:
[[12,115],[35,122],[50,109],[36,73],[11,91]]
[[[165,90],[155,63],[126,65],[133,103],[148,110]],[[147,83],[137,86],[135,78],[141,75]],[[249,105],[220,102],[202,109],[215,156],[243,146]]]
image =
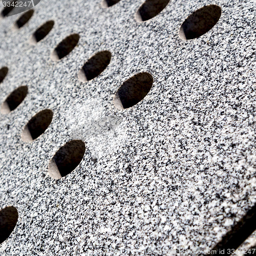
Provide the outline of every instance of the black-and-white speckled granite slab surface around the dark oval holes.
[[[0,102],[28,87],[17,109],[0,115],[0,208],[18,211],[1,255],[209,250],[256,203],[254,0],[173,0],[139,23],[142,3],[41,0],[20,29],[13,24],[22,14],[0,20],[0,66],[9,68]],[[218,23],[182,40],[186,17],[210,4],[221,7]],[[47,37],[29,44],[48,20]],[[74,50],[52,60],[74,33]],[[84,63],[105,50],[109,66],[79,81]],[[117,109],[116,91],[141,72],[154,79],[150,92]],[[24,127],[45,109],[53,111],[48,129],[24,142]],[[51,178],[49,162],[74,139],[86,145],[82,161]]]

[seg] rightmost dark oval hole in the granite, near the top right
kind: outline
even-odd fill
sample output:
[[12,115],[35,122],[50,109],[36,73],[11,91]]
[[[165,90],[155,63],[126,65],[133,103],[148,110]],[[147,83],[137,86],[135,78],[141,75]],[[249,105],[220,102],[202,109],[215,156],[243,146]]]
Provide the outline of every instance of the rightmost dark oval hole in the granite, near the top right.
[[221,8],[217,5],[204,6],[189,15],[180,27],[181,39],[191,40],[207,33],[221,17]]

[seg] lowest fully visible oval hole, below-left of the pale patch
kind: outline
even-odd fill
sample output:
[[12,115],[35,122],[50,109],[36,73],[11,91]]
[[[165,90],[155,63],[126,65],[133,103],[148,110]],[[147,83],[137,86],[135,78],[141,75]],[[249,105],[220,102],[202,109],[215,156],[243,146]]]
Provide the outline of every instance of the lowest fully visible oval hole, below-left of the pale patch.
[[67,176],[82,161],[86,146],[81,140],[72,140],[60,147],[49,164],[49,175],[53,179]]

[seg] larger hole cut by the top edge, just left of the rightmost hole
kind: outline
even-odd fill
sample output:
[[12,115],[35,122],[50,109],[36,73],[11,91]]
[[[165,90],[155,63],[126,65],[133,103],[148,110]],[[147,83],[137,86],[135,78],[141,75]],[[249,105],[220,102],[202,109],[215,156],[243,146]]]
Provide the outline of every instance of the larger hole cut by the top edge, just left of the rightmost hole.
[[135,18],[138,22],[145,22],[159,14],[170,0],[146,0],[137,11]]

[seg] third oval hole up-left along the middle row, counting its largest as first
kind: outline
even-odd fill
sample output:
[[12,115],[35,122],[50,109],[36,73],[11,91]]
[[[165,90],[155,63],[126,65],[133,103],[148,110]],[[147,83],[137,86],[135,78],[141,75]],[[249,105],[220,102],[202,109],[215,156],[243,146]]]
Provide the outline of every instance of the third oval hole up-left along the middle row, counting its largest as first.
[[63,39],[52,52],[52,60],[60,60],[67,56],[76,47],[79,38],[78,34],[72,34]]

